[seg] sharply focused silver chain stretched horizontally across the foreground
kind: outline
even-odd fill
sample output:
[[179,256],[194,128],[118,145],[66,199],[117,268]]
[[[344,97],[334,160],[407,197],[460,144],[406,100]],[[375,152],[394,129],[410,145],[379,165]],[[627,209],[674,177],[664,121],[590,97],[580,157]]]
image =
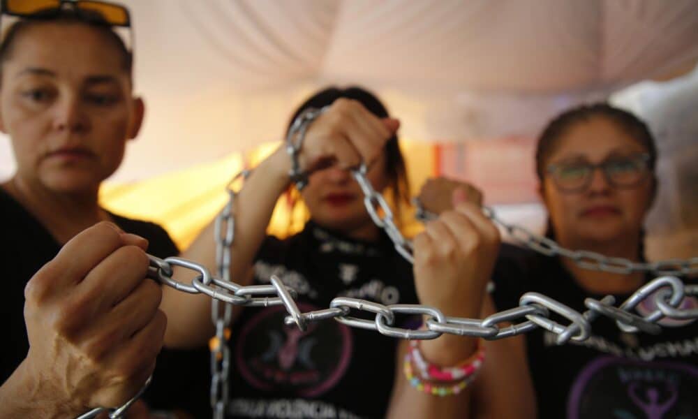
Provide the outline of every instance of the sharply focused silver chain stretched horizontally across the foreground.
[[[641,330],[648,333],[660,332],[658,322],[665,317],[681,320],[698,318],[698,309],[680,308],[686,295],[698,295],[698,286],[685,286],[677,277],[658,277],[649,281],[618,307],[613,305],[615,301],[611,295],[607,295],[600,301],[587,298],[585,304],[588,310],[584,313],[540,293],[525,293],[519,300],[519,307],[500,311],[484,319],[447,317],[440,310],[423,304],[384,305],[351,297],[336,297],[330,302],[329,308],[304,313],[297,307],[293,289],[285,286],[275,275],[272,275],[270,285],[240,286],[232,281],[213,277],[204,266],[188,260],[180,258],[162,260],[154,256],[149,258],[151,267],[157,271],[158,279],[165,285],[184,292],[195,289],[216,300],[242,307],[283,305],[288,312],[288,316],[284,319],[285,324],[297,325],[301,330],[308,328],[311,322],[324,321],[328,318],[334,318],[354,328],[374,330],[381,335],[401,339],[436,339],[447,333],[496,340],[543,328],[557,335],[558,344],[565,344],[570,340],[588,339],[591,336],[591,323],[600,316],[611,318],[624,330],[631,332]],[[171,279],[172,265],[193,270],[198,274],[192,280],[191,288],[188,284]],[[224,289],[211,292],[207,283],[216,284]],[[264,296],[260,297],[260,295]],[[648,299],[652,299],[658,309],[646,316],[632,313],[635,307]],[[372,313],[373,318],[369,320],[352,316],[350,315],[352,311],[366,311]],[[426,330],[394,327],[396,316],[400,314],[426,316]],[[551,314],[566,318],[567,324],[553,320]],[[500,323],[503,322],[514,324],[500,327]]]

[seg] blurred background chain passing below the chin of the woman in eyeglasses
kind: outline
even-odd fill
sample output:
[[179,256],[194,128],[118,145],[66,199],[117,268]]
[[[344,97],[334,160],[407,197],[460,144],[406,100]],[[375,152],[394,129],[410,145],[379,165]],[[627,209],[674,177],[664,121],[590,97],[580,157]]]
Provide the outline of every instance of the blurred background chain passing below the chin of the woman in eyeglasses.
[[[370,185],[369,185],[370,186]],[[429,221],[438,216],[424,210],[419,200],[413,199],[417,208],[417,219]],[[494,223],[502,226],[506,232],[523,246],[542,253],[545,256],[563,256],[570,258],[579,267],[588,270],[611,272],[614,274],[632,274],[633,272],[653,272],[660,276],[688,276],[698,273],[698,257],[689,259],[669,259],[658,262],[640,263],[624,258],[611,258],[601,253],[586,250],[570,250],[560,246],[554,240],[532,233],[530,230],[507,223],[496,216],[490,207],[482,207],[482,212]]]

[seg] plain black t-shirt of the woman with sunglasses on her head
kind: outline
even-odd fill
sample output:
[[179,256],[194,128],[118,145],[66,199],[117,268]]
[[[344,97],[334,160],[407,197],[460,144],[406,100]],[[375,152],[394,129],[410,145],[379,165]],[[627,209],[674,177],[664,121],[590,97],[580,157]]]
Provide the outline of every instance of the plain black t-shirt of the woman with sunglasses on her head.
[[[160,258],[176,256],[177,245],[157,224],[126,219],[111,214],[124,231],[149,241],[148,252]],[[0,189],[0,230],[3,267],[3,292],[0,293],[0,318],[3,318],[3,348],[0,358],[0,383],[20,365],[29,351],[24,325],[24,287],[45,263],[52,260],[61,245],[49,231]],[[197,351],[163,350],[144,399],[154,409],[184,409],[197,417],[210,416],[208,402],[209,355],[207,348]]]

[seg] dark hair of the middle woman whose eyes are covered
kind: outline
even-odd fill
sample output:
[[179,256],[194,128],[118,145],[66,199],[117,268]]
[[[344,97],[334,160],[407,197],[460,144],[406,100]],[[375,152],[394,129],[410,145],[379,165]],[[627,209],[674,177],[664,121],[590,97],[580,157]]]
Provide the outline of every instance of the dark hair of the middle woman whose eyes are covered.
[[[326,87],[306,99],[295,112],[288,123],[286,132],[290,129],[293,121],[308,108],[322,108],[331,105],[339,98],[349,98],[359,101],[364,107],[380,118],[388,117],[385,105],[378,98],[366,89],[351,86],[341,89],[339,87]],[[407,175],[405,160],[403,159],[398,144],[397,135],[393,135],[385,143],[385,170],[388,178],[388,187],[391,191],[391,198],[396,207],[396,219],[400,219],[401,204],[410,203],[410,182]]]

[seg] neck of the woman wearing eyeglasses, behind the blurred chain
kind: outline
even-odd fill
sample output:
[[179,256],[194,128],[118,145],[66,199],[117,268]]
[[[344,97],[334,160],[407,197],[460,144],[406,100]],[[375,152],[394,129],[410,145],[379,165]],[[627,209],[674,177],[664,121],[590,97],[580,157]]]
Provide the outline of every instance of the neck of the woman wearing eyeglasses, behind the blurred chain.
[[[609,242],[574,242],[572,240],[560,240],[560,245],[567,249],[593,251],[612,258],[623,258],[639,261],[639,232],[634,237],[623,237],[623,240]],[[642,272],[632,274],[614,274],[588,270],[579,267],[574,260],[561,257],[563,265],[572,274],[577,284],[585,291],[597,294],[623,294],[635,291],[644,283]]]

